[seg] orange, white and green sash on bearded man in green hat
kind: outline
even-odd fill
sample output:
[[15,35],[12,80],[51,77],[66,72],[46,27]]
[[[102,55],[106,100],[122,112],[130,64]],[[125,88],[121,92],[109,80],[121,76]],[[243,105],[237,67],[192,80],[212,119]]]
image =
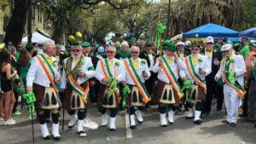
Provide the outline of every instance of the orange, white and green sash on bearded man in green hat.
[[[158,61],[160,61],[160,57],[157,58]],[[166,58],[162,57],[162,60],[164,60],[162,68],[169,80],[169,82],[172,84],[172,88],[177,92],[178,97],[181,99],[183,98],[183,91],[180,88],[180,85],[177,82],[177,78],[175,77],[174,73],[172,72],[171,67],[168,65]]]

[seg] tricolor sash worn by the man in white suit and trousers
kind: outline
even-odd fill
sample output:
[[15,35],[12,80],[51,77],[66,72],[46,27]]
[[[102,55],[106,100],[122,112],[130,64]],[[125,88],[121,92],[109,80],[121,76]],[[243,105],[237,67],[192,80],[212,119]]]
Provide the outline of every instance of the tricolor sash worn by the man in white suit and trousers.
[[[224,84],[230,85],[230,87],[236,91],[237,96],[238,96],[239,98],[242,98],[242,97],[247,93],[246,90],[243,89],[240,84],[236,84],[236,83],[235,83],[235,84],[231,84],[230,79],[229,79],[228,76],[225,74],[226,60],[224,60],[222,63],[224,64],[224,67],[223,67],[223,74],[222,74],[222,77],[223,77],[223,79],[224,79]],[[234,67],[235,63],[232,62],[231,65]],[[230,64],[229,64],[229,66],[228,66],[228,71],[229,71],[229,70],[230,70]]]

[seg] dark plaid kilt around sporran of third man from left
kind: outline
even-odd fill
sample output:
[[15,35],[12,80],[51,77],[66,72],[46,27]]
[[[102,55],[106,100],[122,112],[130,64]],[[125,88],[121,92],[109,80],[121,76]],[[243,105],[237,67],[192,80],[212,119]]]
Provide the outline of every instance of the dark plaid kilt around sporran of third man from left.
[[[97,101],[98,101],[98,107],[102,108],[102,103],[103,103],[103,97],[104,97],[104,91],[108,89],[108,85],[105,84],[100,84],[100,91],[97,94]],[[121,93],[121,92],[119,92]],[[119,98],[117,96],[114,97],[116,101],[116,108],[119,108]]]

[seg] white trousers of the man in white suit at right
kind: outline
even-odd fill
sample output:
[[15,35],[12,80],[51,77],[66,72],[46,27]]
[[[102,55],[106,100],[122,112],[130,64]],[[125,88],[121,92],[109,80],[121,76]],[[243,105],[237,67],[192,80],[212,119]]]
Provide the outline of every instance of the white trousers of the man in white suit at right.
[[226,120],[230,123],[236,123],[239,107],[239,98],[236,91],[228,84],[224,84],[224,102],[228,113],[228,117]]

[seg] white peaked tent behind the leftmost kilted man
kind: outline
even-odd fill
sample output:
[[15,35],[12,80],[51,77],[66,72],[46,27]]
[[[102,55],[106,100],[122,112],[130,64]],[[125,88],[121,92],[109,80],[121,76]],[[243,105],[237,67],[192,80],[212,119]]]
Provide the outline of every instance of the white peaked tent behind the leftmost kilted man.
[[[32,34],[32,43],[38,43],[38,44],[44,44],[44,42],[46,41],[53,41],[51,39],[49,39],[48,37],[44,37],[44,35],[40,34],[39,32],[34,32]],[[26,44],[27,43],[27,37],[23,37],[21,40],[22,44]]]

